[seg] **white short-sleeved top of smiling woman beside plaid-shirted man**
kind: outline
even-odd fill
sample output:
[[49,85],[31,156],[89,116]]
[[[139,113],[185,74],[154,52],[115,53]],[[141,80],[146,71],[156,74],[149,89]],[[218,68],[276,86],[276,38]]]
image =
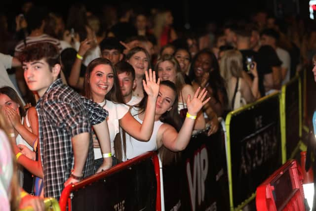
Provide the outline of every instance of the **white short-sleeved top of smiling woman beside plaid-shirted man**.
[[[114,151],[114,139],[119,133],[119,123],[118,120],[122,119],[123,116],[129,111],[129,107],[125,104],[114,103],[109,100],[105,100],[102,103],[98,103],[101,107],[109,112],[107,117],[107,123],[109,127],[109,134],[111,140],[111,153],[115,155]],[[94,148],[94,159],[102,158],[102,153],[100,148]]]

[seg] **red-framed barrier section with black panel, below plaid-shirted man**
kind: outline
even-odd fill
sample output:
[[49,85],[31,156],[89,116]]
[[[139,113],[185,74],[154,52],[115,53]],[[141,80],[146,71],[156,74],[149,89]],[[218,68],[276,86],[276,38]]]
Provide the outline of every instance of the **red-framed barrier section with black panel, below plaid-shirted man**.
[[156,152],[120,163],[64,188],[61,211],[160,211],[160,174]]

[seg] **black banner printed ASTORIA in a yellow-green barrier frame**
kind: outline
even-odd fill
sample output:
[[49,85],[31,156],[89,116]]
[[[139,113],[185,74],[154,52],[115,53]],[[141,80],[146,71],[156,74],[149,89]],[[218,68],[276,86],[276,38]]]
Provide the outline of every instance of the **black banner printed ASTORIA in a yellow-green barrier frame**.
[[230,146],[234,207],[248,199],[282,164],[279,97],[234,114]]

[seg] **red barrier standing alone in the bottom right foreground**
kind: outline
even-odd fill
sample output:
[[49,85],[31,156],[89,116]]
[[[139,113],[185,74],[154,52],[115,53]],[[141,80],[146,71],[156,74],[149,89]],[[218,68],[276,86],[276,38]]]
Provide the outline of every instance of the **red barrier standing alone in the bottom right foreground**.
[[257,187],[257,211],[305,211],[302,184],[297,161],[288,161]]

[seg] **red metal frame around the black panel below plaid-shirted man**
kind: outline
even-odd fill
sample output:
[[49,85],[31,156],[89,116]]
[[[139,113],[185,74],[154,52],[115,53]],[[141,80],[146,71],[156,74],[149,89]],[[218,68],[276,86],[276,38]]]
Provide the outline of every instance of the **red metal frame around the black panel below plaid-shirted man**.
[[68,210],[71,211],[71,199],[70,199],[70,194],[73,191],[79,190],[81,188],[84,188],[85,186],[98,181],[100,179],[106,178],[109,175],[112,175],[122,169],[127,169],[130,166],[134,165],[135,163],[148,159],[152,157],[153,160],[153,164],[154,164],[154,169],[155,169],[155,175],[156,175],[156,179],[157,179],[157,198],[156,198],[156,210],[160,211],[161,210],[161,198],[160,198],[160,172],[159,172],[159,162],[158,162],[158,156],[156,152],[148,152],[145,153],[144,155],[138,156],[136,158],[130,159],[128,161],[125,161],[123,163],[120,163],[116,166],[114,166],[113,168],[104,171],[104,172],[100,172],[97,174],[94,174],[82,181],[80,181],[79,183],[73,184],[73,185],[68,185],[64,188],[60,200],[59,200],[59,206],[61,211],[66,211],[66,207],[68,205]]

